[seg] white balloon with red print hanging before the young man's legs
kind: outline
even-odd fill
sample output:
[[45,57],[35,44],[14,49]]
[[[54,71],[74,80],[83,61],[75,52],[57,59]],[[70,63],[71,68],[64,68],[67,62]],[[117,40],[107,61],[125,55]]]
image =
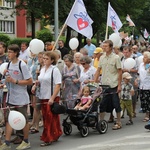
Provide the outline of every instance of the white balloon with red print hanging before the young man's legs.
[[10,126],[15,130],[22,130],[26,125],[24,115],[18,111],[11,110],[8,116]]

